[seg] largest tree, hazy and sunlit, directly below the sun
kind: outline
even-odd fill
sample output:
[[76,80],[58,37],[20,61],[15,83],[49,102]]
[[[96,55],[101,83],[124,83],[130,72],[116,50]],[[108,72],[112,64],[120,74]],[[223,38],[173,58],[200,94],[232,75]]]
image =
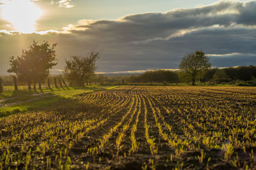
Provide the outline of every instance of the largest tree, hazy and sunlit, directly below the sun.
[[10,69],[8,73],[15,73],[20,81],[27,81],[29,90],[31,89],[31,81],[38,82],[39,87],[41,81],[44,81],[49,76],[49,69],[56,66],[56,51],[54,50],[57,44],[52,46],[44,41],[41,45],[34,40],[28,49],[22,50],[20,56],[10,58]]

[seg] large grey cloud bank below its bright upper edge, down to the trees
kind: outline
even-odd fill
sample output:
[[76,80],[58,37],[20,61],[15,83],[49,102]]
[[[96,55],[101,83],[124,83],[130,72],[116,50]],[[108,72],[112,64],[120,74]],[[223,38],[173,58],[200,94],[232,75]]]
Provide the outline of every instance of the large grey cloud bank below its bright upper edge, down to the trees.
[[0,71],[6,71],[8,57],[19,55],[33,39],[58,43],[56,69],[63,69],[65,58],[91,48],[102,51],[99,72],[177,68],[184,54],[195,50],[210,54],[217,67],[256,65],[255,9],[256,1],[221,1],[119,20],[81,20],[65,30],[68,34],[1,34]]

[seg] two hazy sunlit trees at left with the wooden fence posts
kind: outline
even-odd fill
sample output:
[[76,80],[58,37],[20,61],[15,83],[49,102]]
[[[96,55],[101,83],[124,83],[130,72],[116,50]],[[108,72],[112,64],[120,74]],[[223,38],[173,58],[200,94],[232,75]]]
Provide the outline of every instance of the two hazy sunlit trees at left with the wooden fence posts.
[[[39,89],[42,89],[42,82],[47,80],[47,85],[51,88],[49,73],[52,67],[58,64],[56,59],[56,43],[50,44],[44,41],[38,44],[35,40],[27,48],[22,50],[21,55],[10,57],[10,68],[8,73],[12,74],[15,90],[18,90],[17,81],[27,83],[28,89],[31,90],[33,85],[36,90],[36,83]],[[72,56],[65,60],[66,66],[63,71],[63,77],[68,80],[70,85],[83,86],[95,76],[95,63],[99,59],[99,52],[91,50],[86,56]],[[63,78],[54,78],[55,87],[67,86]],[[0,78],[0,92],[3,91],[2,80]]]

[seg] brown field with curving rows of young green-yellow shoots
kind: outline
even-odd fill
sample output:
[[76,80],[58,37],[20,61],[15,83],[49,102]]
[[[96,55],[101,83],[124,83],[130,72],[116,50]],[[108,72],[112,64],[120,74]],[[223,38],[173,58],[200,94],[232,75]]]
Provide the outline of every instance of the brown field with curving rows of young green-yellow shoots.
[[255,87],[127,86],[0,118],[0,169],[255,166]]

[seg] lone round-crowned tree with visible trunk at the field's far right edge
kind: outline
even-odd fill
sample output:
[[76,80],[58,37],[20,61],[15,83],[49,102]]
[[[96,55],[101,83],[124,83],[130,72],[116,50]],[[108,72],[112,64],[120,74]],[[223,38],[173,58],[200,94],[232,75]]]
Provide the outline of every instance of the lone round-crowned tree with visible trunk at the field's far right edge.
[[195,85],[196,77],[209,67],[211,67],[211,63],[203,51],[186,54],[179,65],[182,71],[189,74],[192,85]]

